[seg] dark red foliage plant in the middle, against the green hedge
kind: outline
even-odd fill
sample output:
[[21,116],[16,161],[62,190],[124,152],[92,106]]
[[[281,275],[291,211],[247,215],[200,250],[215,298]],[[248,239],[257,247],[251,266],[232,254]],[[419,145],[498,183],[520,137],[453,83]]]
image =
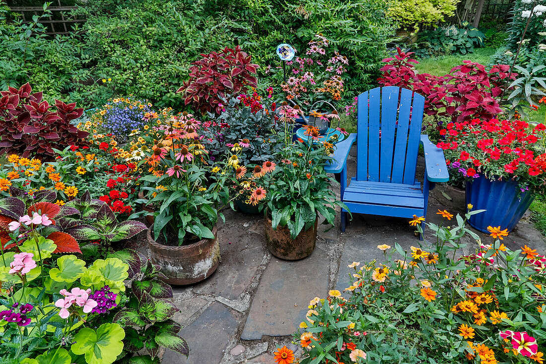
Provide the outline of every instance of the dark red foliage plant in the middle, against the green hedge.
[[219,115],[223,99],[245,93],[248,87],[256,87],[253,74],[259,66],[251,62],[251,56],[240,46],[201,56],[203,59],[193,62],[189,68],[189,80],[176,91],[183,92],[185,104],[192,104],[201,114]]

